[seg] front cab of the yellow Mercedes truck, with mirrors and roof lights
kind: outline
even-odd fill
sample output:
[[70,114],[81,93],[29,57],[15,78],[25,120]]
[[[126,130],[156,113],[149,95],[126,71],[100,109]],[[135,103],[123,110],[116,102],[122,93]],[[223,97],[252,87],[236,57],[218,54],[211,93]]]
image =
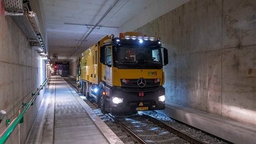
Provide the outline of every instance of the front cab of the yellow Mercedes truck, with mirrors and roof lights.
[[163,65],[168,63],[168,53],[160,40],[124,33],[123,37],[103,41],[99,57],[101,111],[131,113],[165,109]]

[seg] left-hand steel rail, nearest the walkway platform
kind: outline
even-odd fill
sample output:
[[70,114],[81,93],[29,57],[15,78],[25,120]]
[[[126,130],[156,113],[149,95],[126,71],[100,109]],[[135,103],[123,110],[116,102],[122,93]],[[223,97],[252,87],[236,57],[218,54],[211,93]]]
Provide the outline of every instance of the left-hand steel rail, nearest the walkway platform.
[[139,143],[143,143],[146,144],[147,142],[144,141],[143,139],[141,139],[141,137],[139,137],[139,135],[136,135],[135,133],[133,133],[133,131],[131,131],[131,129],[129,129],[128,127],[126,127],[125,125],[123,125],[123,123],[121,123],[121,121],[119,121],[118,119],[116,119],[113,115],[107,113],[105,114],[108,117],[110,117],[111,119],[113,119],[113,121],[115,121],[116,123],[118,123],[125,131],[127,131],[127,133],[129,133],[129,135],[131,135],[131,137],[133,137],[133,139],[135,139],[136,141],[138,141]]

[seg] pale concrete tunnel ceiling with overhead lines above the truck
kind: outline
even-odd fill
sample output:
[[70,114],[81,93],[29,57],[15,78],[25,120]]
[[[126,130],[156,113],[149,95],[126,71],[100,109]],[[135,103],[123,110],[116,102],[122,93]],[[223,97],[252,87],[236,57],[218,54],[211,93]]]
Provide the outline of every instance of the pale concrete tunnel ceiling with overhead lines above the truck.
[[[187,1],[40,1],[51,61],[54,53],[58,55],[58,61],[74,60],[105,35],[133,31]],[[97,23],[99,25],[93,29]]]

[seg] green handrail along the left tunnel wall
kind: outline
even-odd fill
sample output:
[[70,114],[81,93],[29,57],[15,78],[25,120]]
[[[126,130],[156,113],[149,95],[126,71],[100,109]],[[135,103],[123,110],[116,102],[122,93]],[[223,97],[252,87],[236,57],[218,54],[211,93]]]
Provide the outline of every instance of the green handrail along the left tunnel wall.
[[[49,76],[50,77],[50,76]],[[5,131],[0,135],[0,144],[3,144],[7,141],[7,139],[9,138],[9,136],[11,135],[11,133],[13,133],[15,127],[17,127],[17,125],[20,123],[20,121],[23,119],[23,115],[27,112],[27,110],[29,109],[29,107],[31,105],[33,105],[33,102],[35,101],[35,99],[37,98],[37,95],[39,95],[39,92],[41,91],[41,89],[43,89],[43,87],[45,86],[45,84],[47,83],[49,77],[47,77],[47,79],[45,79],[45,81],[43,82],[43,84],[39,87],[39,89],[37,89],[37,91],[35,93],[32,93],[33,97],[31,99],[31,101],[29,101],[29,103],[25,104],[25,108],[23,109],[23,111],[21,111],[21,113],[19,114],[18,117],[15,118],[15,120],[10,123],[10,125],[5,129]],[[24,105],[24,103],[22,104]]]

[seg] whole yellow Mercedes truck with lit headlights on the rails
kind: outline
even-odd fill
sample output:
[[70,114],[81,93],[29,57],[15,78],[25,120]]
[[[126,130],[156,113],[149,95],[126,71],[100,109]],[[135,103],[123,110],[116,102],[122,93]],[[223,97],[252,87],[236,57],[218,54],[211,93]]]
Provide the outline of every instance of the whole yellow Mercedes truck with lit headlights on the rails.
[[77,63],[77,88],[103,113],[165,109],[163,65],[167,49],[142,33],[109,35],[85,50]]

